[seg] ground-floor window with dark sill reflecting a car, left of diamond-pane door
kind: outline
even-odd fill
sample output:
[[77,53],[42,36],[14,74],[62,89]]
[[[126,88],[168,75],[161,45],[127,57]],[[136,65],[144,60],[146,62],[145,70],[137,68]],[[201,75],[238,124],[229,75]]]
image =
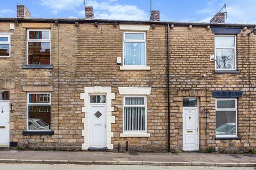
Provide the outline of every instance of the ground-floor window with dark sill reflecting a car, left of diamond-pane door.
[[27,94],[27,129],[51,130],[51,94],[31,92]]

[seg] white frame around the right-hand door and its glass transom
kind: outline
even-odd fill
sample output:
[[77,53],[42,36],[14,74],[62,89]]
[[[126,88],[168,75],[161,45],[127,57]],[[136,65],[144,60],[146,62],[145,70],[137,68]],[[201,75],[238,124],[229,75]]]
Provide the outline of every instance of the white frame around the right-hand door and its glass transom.
[[[197,99],[197,107],[184,107],[183,106],[183,99]],[[185,109],[196,109],[196,127],[198,131],[196,132],[196,149],[182,149],[187,151],[196,151],[199,150],[199,98],[198,97],[183,97],[182,98],[182,148],[184,148],[184,141],[185,141],[185,121],[184,121],[184,110]]]

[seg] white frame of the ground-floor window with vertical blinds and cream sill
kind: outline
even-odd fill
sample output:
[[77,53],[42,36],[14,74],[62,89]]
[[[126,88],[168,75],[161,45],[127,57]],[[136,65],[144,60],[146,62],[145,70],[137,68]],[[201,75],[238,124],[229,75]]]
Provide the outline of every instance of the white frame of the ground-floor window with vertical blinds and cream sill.
[[[126,105],[125,98],[126,97],[143,97],[144,98],[144,105]],[[144,131],[125,131],[125,122],[124,122],[124,108],[125,107],[145,107],[145,130]],[[123,96],[123,133],[127,134],[145,134],[147,133],[147,96],[145,95],[125,95]]]

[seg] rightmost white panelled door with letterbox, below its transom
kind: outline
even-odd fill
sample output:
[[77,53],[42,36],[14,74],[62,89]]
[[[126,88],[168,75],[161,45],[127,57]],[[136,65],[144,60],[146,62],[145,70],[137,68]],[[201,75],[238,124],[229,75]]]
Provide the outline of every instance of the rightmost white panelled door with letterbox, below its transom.
[[183,107],[183,150],[199,150],[198,107]]

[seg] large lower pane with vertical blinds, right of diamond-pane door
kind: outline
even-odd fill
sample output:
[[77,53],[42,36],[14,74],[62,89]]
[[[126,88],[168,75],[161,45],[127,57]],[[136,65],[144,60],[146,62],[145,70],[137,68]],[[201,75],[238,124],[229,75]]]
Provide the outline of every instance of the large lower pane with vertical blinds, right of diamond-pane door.
[[124,130],[145,131],[145,107],[124,108]]

